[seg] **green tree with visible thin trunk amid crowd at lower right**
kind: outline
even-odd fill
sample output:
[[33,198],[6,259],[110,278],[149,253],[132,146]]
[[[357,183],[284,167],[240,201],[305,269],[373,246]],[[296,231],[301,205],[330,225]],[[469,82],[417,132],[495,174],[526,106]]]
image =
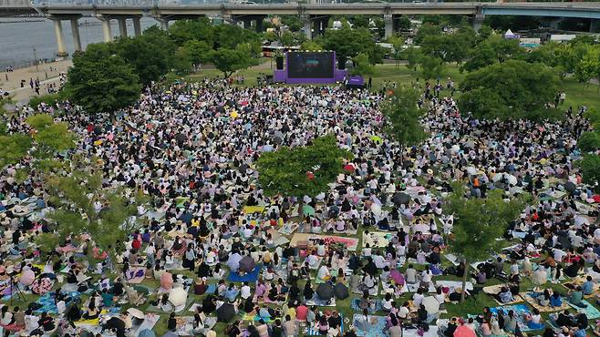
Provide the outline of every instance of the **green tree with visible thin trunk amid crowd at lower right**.
[[[493,189],[487,198],[465,198],[464,186],[454,187],[446,199],[447,209],[454,216],[452,235],[448,240],[450,251],[465,262],[462,289],[466,289],[471,262],[487,259],[499,243],[508,224],[518,219],[525,206],[523,198],[505,200],[502,190]],[[464,292],[460,301],[464,301]]]

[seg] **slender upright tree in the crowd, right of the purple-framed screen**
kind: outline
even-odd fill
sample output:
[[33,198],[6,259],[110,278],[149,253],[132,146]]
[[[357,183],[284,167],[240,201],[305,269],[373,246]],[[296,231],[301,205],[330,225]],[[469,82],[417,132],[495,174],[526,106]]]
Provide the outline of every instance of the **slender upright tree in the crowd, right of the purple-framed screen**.
[[424,113],[417,105],[419,96],[419,90],[416,88],[400,86],[381,106],[381,112],[386,117],[386,132],[398,141],[402,148],[402,161],[404,148],[418,145],[427,138],[427,133],[419,121]]

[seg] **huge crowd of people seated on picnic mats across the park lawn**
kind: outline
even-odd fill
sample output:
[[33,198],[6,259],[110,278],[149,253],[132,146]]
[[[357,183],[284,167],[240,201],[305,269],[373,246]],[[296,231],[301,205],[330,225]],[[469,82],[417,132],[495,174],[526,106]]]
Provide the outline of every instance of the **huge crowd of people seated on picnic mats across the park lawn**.
[[[68,237],[42,260],[32,238],[60,226],[45,217],[53,205],[43,179],[16,178],[31,160],[4,168],[0,283],[6,299],[39,296],[26,308],[4,301],[0,325],[26,335],[147,336],[161,316],[167,335],[600,335],[584,310],[597,305],[600,197],[576,162],[576,140],[590,128],[583,109],[558,122],[478,120],[442,90],[424,87],[430,137],[406,149],[384,133],[383,92],[212,79],[148,88],[115,120],[42,103],[77,133],[70,155],[101,162],[105,188],[141,191],[150,202],[138,206],[140,228],[114,254],[94,238]],[[10,117],[9,132],[29,132],[31,113]],[[353,154],[332,188],[302,198],[303,209],[300,198],[266,196],[255,167],[261,154],[324,135]],[[505,232],[517,243],[477,264],[465,289],[445,281],[467,272],[448,253],[450,181],[463,181],[470,198],[491,189],[533,198]],[[98,212],[104,201],[93,200]],[[535,286],[531,299],[523,283]],[[499,307],[520,298],[533,310],[440,313],[481,290]],[[559,313],[544,322],[538,307]]]

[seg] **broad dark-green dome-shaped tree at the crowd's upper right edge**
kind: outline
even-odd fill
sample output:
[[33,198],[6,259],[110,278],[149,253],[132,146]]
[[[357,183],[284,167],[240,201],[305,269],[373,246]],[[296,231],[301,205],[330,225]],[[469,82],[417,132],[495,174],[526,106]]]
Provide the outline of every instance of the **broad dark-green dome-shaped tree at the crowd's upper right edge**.
[[553,69],[510,60],[470,73],[460,83],[460,110],[474,117],[531,118],[550,112],[545,108],[558,91]]

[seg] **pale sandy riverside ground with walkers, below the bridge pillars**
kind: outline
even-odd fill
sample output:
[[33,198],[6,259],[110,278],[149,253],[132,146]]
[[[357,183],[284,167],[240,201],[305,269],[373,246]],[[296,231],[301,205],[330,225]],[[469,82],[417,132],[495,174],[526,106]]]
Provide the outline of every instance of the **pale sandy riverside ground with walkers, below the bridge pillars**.
[[[49,83],[58,82],[58,75],[62,72],[67,72],[67,69],[72,66],[71,60],[58,61],[53,63],[45,63],[39,66],[28,66],[25,68],[15,69],[15,71],[6,73],[3,71],[0,76],[0,88],[11,93],[17,102],[23,102],[30,97],[36,95],[34,90],[29,87],[29,79],[37,78],[40,81],[40,95],[47,94],[46,85]],[[8,77],[8,80],[6,80]],[[21,87],[21,80],[25,79],[25,87]]]

